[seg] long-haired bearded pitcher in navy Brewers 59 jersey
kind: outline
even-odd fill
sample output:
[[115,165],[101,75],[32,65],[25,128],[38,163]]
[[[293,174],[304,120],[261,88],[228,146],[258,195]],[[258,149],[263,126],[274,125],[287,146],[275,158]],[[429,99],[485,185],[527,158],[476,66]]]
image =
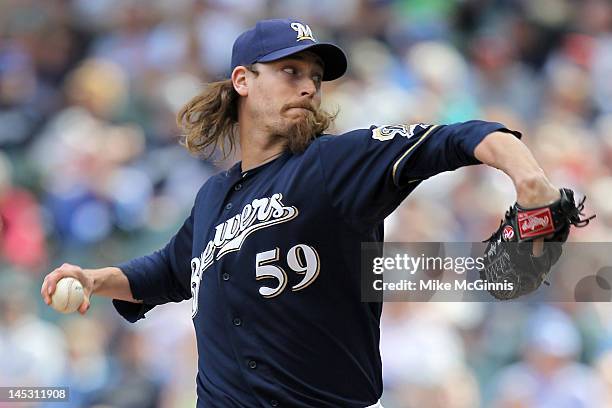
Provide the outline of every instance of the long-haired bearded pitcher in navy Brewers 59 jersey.
[[[529,244],[521,256],[546,259],[530,271],[536,282],[558,258],[552,244],[580,217],[521,134],[500,123],[325,133],[333,115],[320,108],[321,83],[346,69],[344,52],[318,42],[304,22],[260,21],[240,35],[231,76],[209,84],[178,122],[190,151],[239,146],[241,161],[204,183],[165,247],[113,267],[64,264],[45,278],[45,301],[64,276],[83,284],[82,314],[94,294],[112,298],[130,322],[190,300],[198,407],[380,407],[382,303],[360,300],[360,248],[383,240],[383,220],[420,183],[484,163],[516,187],[501,231],[518,225],[512,217],[556,211],[555,225],[515,234]],[[505,242],[497,239],[505,231],[492,241]],[[524,266],[513,268],[520,277]]]

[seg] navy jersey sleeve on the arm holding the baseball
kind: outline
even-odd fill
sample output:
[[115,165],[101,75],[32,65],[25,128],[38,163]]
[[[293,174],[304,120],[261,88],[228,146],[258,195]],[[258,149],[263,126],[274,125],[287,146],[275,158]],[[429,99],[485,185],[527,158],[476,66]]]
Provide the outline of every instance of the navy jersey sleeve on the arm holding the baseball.
[[113,299],[117,312],[134,323],[156,305],[191,298],[193,210],[168,244],[150,255],[117,265],[128,278],[132,295],[143,303]]

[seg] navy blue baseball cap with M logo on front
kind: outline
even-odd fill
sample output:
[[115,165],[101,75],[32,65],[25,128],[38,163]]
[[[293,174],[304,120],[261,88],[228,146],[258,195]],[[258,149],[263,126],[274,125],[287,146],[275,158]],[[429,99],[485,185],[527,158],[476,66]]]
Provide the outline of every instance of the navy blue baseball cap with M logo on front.
[[238,65],[276,61],[304,50],[323,60],[323,81],[340,78],[346,72],[346,55],[340,47],[317,42],[307,24],[292,19],[261,20],[240,34],[232,48],[231,70]]

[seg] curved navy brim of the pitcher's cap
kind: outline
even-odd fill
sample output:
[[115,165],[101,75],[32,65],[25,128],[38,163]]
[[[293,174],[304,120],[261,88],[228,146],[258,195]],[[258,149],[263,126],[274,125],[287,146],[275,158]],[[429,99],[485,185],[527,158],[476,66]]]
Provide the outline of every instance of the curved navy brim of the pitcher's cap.
[[333,81],[334,79],[340,78],[346,72],[347,59],[344,51],[342,51],[340,47],[330,43],[302,44],[296,45],[295,47],[284,48],[264,55],[261,58],[257,58],[257,62],[272,62],[305,50],[312,51],[323,60],[325,64],[323,81]]

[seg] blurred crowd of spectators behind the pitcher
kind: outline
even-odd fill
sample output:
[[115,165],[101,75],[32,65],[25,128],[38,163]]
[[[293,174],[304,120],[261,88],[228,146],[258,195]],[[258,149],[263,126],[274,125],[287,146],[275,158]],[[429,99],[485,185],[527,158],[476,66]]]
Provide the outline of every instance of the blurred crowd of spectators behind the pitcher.
[[[61,316],[38,291],[63,262],[113,265],[169,239],[232,164],[180,147],[176,112],[227,76],[240,32],[289,16],[349,56],[323,87],[334,133],[501,121],[556,185],[589,197],[597,219],[571,240],[612,242],[609,0],[4,0],[0,386],[69,386],[75,407],[194,406],[188,302],[129,325],[106,299]],[[480,241],[514,199],[485,166],[439,175],[387,240]],[[612,407],[610,303],[384,309],[385,407]]]

